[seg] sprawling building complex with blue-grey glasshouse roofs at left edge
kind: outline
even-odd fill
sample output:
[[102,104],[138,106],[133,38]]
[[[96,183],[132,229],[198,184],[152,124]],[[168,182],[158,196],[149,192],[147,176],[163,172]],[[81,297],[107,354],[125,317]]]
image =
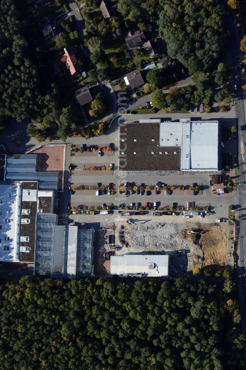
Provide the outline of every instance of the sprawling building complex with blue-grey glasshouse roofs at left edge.
[[58,225],[59,172],[37,168],[37,154],[0,157],[0,261],[27,262],[35,275],[93,275],[94,230]]

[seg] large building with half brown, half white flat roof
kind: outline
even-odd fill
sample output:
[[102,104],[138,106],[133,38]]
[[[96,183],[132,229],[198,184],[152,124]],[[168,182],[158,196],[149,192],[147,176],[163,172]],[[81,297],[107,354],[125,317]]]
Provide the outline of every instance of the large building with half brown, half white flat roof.
[[[125,141],[127,147],[121,143]],[[220,143],[218,121],[151,118],[127,123],[120,128],[120,173],[218,174],[221,171]]]

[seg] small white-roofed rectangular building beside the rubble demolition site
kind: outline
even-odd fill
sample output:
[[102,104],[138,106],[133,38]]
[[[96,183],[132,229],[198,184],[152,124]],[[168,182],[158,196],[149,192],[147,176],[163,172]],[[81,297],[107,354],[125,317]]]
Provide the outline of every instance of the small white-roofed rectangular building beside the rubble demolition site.
[[122,255],[111,256],[111,275],[164,277],[169,275],[167,255]]

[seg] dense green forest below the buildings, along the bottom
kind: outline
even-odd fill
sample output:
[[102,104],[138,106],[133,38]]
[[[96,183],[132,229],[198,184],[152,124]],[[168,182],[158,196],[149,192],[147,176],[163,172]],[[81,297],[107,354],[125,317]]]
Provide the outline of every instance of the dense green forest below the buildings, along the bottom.
[[238,302],[222,288],[181,278],[2,282],[0,368],[245,369]]

